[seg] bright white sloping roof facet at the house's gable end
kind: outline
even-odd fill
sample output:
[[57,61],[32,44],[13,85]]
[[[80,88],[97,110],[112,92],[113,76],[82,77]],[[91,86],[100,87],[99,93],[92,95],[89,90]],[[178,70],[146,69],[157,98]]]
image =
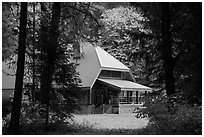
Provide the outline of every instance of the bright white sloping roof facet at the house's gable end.
[[95,47],[95,50],[102,68],[107,68],[109,70],[129,71],[129,68],[127,66],[111,56],[101,47],[97,46]]

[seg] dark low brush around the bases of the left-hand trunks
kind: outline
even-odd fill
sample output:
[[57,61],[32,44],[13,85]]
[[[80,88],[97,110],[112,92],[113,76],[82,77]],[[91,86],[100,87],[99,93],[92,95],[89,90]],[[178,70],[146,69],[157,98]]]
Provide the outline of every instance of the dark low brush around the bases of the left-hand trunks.
[[[70,113],[64,114],[51,109],[49,125],[45,128],[45,105],[40,102],[23,102],[20,117],[20,134],[56,134],[59,132],[61,134],[72,121],[72,118],[73,115]],[[3,134],[7,134],[10,119],[11,113],[3,117]],[[57,132],[55,133],[55,131]]]

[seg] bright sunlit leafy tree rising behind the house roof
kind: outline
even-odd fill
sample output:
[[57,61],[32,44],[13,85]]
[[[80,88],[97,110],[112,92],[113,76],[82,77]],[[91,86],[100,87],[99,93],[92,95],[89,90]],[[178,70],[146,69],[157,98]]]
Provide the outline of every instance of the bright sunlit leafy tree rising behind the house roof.
[[156,42],[141,10],[119,4],[104,10],[100,21],[104,26],[100,41],[105,50],[131,68],[137,82],[152,83],[149,71],[155,51],[149,51]]

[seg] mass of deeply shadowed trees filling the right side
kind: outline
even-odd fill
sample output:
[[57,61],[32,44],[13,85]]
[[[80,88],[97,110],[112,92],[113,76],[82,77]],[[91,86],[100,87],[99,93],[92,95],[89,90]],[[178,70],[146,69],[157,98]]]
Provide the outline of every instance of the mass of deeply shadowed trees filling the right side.
[[[147,35],[154,41],[154,45],[145,50],[149,66],[147,77],[155,77],[156,83],[165,83],[167,94],[176,93],[180,98],[178,100],[201,104],[202,4],[195,2],[131,5],[143,11],[144,16],[149,19],[146,25],[153,32],[153,35]],[[143,55],[144,52],[138,54]],[[154,80],[149,80],[154,83]]]

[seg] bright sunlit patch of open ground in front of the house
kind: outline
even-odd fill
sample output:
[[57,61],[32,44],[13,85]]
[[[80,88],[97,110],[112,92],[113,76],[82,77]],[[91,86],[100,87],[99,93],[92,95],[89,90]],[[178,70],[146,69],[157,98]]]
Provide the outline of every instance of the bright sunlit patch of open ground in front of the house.
[[139,129],[147,125],[148,119],[135,118],[133,114],[89,114],[75,115],[79,124],[93,126],[99,129]]

